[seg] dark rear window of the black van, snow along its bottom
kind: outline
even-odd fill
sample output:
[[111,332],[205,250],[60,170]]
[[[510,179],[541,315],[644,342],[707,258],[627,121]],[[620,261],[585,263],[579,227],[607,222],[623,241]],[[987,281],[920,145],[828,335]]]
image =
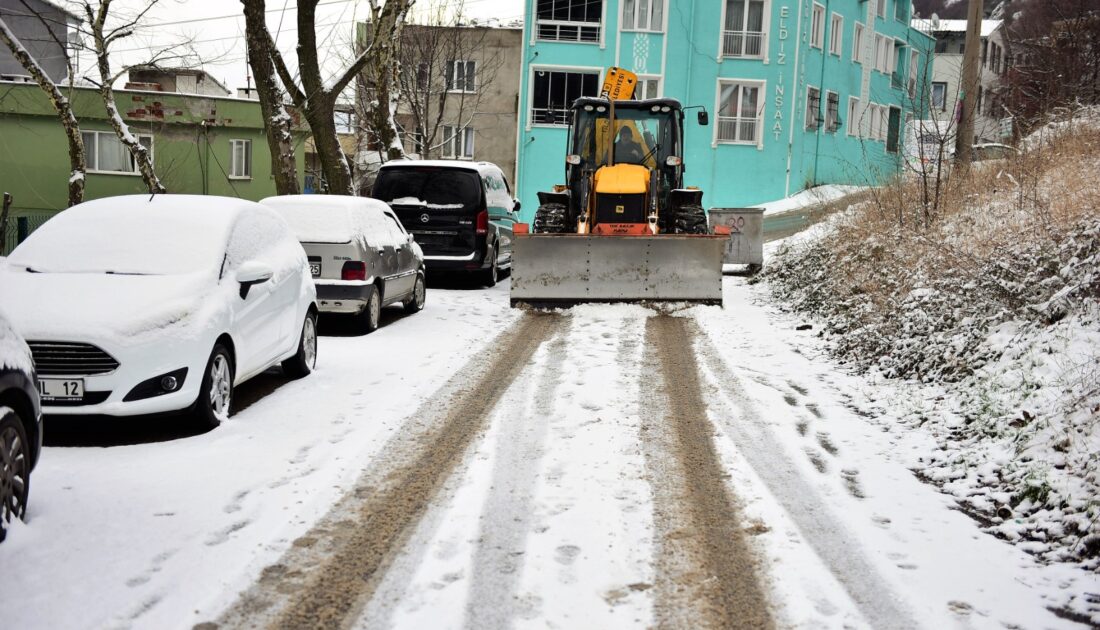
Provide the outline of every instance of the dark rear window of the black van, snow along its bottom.
[[374,185],[374,198],[397,206],[473,208],[481,203],[481,178],[449,168],[385,168]]

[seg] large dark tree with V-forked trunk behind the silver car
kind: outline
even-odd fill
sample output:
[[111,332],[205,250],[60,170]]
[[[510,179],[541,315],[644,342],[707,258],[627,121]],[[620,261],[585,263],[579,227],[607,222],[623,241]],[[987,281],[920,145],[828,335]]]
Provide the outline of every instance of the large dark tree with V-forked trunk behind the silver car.
[[[245,0],[242,0],[245,1]],[[245,4],[248,4],[248,0]],[[248,27],[253,31],[250,37],[258,37],[266,42],[268,55],[275,67],[275,73],[286,89],[295,107],[301,112],[309,124],[317,148],[317,157],[321,163],[323,174],[322,190],[340,195],[352,195],[352,175],[348,159],[340,147],[337,136],[334,112],[337,99],[344,88],[375,57],[388,58],[392,53],[394,37],[399,34],[405,23],[409,7],[414,0],[388,0],[381,4],[380,0],[371,0],[371,13],[375,24],[375,42],[378,45],[363,47],[355,58],[326,81],[321,76],[321,64],[317,49],[317,5],[319,0],[301,0],[298,2],[298,73],[300,84],[292,75],[286,60],[275,46],[266,23],[252,20]],[[258,22],[258,23],[257,23]],[[264,96],[261,93],[261,99]],[[267,98],[272,98],[268,95]]]

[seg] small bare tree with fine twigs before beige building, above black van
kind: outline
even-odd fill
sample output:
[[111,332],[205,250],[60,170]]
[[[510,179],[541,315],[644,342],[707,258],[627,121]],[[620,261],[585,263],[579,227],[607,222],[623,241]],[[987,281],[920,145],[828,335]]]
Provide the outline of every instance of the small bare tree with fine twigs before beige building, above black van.
[[443,128],[458,133],[470,126],[504,63],[499,48],[490,45],[490,29],[466,22],[461,7],[451,16],[448,4],[438,7],[428,24],[407,27],[398,76],[398,109],[424,157],[448,154],[446,144],[454,139]]

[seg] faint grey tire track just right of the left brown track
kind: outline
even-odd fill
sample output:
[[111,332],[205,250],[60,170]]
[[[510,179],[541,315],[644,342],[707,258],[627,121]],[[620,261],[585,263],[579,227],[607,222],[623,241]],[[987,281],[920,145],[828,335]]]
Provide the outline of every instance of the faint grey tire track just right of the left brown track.
[[510,628],[516,593],[554,399],[562,382],[569,334],[548,345],[548,360],[536,380],[529,413],[510,418],[497,438],[493,484],[482,508],[481,535],[473,557],[465,628]]

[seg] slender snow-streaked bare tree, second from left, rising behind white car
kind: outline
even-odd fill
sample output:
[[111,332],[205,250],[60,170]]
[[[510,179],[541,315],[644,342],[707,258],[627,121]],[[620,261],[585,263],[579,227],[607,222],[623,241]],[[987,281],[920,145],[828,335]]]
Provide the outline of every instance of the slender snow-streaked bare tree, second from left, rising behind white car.
[[[84,11],[87,15],[95,44],[96,68],[99,70],[99,95],[103,99],[103,107],[107,108],[108,120],[119,141],[125,145],[130,151],[130,155],[133,156],[134,163],[138,165],[138,170],[141,173],[148,191],[154,194],[167,192],[167,189],[156,175],[156,169],[153,166],[153,157],[150,155],[148,148],[134,134],[130,133],[129,125],[127,125],[119,113],[118,104],[114,101],[113,86],[114,81],[119,80],[129,68],[123,68],[117,74],[111,73],[110,47],[119,40],[133,35],[138,24],[156,5],[157,1],[150,0],[136,15],[122,20],[116,26],[107,25],[107,20],[111,15],[112,0],[99,0],[95,7],[90,0],[85,0],[84,2]],[[150,65],[155,66],[173,56],[175,55],[168,48],[165,48],[158,53],[154,53]]]

